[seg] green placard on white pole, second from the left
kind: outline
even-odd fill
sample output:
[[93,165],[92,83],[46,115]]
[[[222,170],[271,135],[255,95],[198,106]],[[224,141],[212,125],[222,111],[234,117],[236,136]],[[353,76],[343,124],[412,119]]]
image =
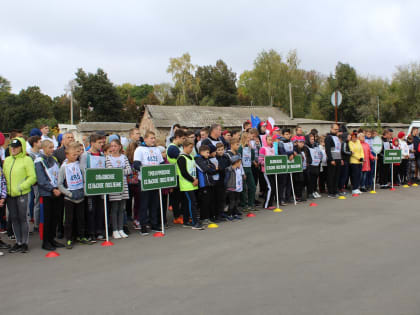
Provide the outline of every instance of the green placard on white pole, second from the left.
[[143,166],[141,168],[141,190],[170,188],[177,185],[174,164]]

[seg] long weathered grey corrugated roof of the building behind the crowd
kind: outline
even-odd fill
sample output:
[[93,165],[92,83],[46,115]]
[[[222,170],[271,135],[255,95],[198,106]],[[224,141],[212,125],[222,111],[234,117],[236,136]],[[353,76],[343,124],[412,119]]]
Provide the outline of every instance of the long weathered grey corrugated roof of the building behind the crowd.
[[201,128],[214,123],[224,127],[238,127],[250,119],[251,114],[266,120],[273,117],[276,125],[295,126],[310,123],[331,123],[325,120],[297,118],[291,120],[284,112],[271,106],[164,106],[146,105],[156,128],[170,128],[173,124]]

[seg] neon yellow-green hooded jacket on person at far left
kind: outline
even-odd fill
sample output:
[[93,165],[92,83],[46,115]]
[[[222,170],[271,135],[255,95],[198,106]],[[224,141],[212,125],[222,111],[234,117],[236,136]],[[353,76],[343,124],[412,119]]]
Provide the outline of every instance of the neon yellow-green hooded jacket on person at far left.
[[11,197],[28,194],[36,183],[34,162],[26,155],[26,141],[19,137],[15,139],[22,144],[22,151],[15,156],[8,156],[3,165],[7,195]]

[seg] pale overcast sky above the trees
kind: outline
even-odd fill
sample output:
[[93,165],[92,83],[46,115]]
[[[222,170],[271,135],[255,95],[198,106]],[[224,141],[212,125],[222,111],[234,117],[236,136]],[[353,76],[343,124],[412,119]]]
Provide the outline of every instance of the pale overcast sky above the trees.
[[349,63],[392,78],[420,57],[420,2],[286,0],[3,0],[0,76],[18,93],[65,93],[78,68],[102,68],[115,84],[171,82],[169,58],[224,60],[237,73],[258,53],[296,49],[306,70]]

